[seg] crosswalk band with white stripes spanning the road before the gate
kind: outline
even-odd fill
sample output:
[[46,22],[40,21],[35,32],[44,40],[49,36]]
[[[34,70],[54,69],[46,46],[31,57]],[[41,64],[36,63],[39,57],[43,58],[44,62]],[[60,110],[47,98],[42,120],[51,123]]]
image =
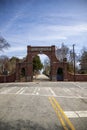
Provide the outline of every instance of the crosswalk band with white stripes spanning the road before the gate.
[[30,96],[54,96],[65,98],[85,98],[87,92],[80,88],[67,87],[41,87],[41,86],[5,86],[0,87],[0,95],[15,94],[15,95],[30,95]]

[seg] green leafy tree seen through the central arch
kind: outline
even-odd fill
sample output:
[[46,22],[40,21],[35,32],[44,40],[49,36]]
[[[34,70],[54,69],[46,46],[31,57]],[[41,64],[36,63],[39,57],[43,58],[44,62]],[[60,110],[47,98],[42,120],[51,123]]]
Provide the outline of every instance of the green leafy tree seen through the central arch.
[[33,59],[33,72],[38,72],[43,68],[43,64],[41,63],[40,57],[35,56]]

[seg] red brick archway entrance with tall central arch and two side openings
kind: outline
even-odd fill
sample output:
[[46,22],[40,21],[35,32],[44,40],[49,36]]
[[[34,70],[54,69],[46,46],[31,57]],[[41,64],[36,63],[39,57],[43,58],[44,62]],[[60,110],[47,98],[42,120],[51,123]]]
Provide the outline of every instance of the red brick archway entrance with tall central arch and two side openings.
[[46,54],[50,59],[50,80],[57,81],[57,69],[63,68],[64,79],[67,79],[66,63],[60,63],[55,56],[55,46],[27,46],[27,58],[24,62],[16,64],[16,80],[20,81],[21,69],[25,68],[25,79],[31,82],[33,80],[33,58],[38,54]]

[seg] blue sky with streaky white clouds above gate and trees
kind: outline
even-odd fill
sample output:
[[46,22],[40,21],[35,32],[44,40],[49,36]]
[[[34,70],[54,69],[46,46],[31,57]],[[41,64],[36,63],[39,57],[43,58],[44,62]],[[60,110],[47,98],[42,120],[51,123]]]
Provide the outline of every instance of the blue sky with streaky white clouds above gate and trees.
[[11,45],[0,52],[24,57],[27,45],[87,47],[87,0],[0,0],[0,35]]

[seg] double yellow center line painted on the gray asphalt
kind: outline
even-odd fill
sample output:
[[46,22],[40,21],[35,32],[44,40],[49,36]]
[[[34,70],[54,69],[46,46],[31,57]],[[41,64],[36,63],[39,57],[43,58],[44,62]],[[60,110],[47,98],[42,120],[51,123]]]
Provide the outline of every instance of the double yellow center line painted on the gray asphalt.
[[58,119],[60,120],[64,130],[75,130],[73,124],[70,122],[69,118],[65,115],[64,111],[60,107],[59,103],[54,97],[49,97],[49,101],[54,108]]

